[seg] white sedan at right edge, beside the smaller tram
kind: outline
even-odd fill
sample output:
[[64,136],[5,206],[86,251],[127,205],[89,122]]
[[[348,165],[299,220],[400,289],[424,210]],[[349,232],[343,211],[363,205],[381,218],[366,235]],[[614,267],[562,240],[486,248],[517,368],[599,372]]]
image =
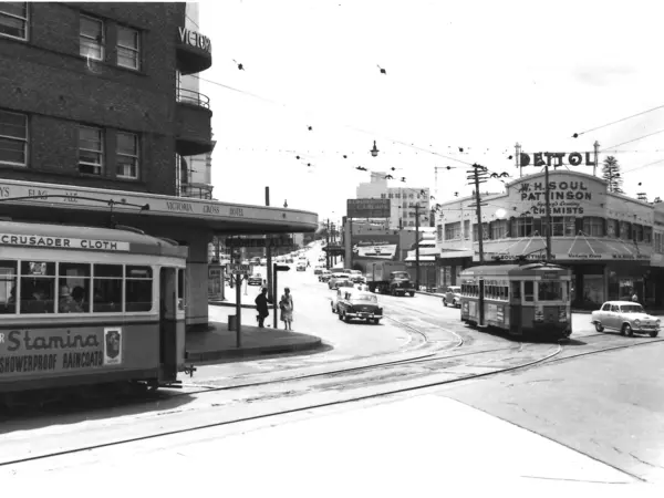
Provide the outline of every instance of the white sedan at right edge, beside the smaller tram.
[[634,332],[640,332],[651,338],[660,333],[660,319],[647,314],[641,304],[631,301],[606,301],[592,312],[591,323],[598,332],[610,329],[619,331],[621,335],[633,336]]

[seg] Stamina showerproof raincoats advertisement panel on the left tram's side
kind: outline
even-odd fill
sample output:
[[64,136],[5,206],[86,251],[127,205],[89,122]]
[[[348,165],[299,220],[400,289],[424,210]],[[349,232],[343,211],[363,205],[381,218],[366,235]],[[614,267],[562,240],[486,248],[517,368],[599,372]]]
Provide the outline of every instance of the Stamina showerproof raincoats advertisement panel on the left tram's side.
[[[145,325],[136,325],[142,333],[133,336],[141,342],[127,345],[128,331],[123,329],[131,328],[0,330],[0,381],[3,377],[43,376],[49,373],[85,374],[95,370],[149,366],[146,363],[153,363],[152,356],[157,363],[157,353],[154,352],[158,350],[156,328],[151,334]],[[127,356],[132,349],[136,351]]]

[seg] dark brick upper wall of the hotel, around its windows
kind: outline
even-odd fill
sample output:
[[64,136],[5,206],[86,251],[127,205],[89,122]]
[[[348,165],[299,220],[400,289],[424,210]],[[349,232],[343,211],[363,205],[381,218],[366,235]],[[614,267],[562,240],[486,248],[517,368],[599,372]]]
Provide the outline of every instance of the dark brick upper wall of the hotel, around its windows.
[[[28,41],[0,37],[0,110],[29,117],[28,166],[4,178],[175,195],[176,34],[185,3],[28,3]],[[104,61],[80,55],[80,15],[104,21]],[[115,61],[117,25],[141,32],[141,70]],[[208,118],[209,123],[209,118]],[[105,132],[101,176],[79,173],[77,126]],[[141,137],[138,179],[115,176],[117,131]],[[207,131],[209,136],[209,129]]]

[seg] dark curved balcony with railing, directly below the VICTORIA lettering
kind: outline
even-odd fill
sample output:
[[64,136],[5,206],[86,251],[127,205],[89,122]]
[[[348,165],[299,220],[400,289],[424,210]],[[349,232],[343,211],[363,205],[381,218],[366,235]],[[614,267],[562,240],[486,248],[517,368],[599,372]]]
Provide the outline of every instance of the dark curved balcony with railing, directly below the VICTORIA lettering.
[[197,156],[212,152],[212,112],[210,100],[191,90],[178,89],[176,106],[175,151],[180,156]]

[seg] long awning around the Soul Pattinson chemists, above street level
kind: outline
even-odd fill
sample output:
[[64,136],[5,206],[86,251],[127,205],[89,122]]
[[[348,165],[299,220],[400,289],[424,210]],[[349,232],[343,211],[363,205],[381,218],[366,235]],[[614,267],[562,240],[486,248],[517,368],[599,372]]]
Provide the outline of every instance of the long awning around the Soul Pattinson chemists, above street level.
[[[473,259],[479,260],[479,245],[475,245]],[[541,259],[546,255],[547,242],[543,237],[530,237],[512,240],[485,240],[485,260]],[[596,237],[556,237],[551,239],[551,256],[558,261],[610,261],[632,260],[650,261],[652,247],[621,239],[600,239]]]

